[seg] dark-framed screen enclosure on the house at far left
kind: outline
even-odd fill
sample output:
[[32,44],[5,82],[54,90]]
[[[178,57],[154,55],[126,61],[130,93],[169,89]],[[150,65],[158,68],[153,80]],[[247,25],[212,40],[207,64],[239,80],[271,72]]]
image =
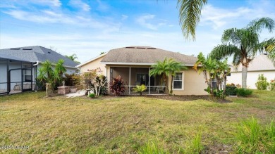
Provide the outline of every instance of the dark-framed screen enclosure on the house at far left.
[[35,63],[0,54],[0,94],[16,94],[36,88]]

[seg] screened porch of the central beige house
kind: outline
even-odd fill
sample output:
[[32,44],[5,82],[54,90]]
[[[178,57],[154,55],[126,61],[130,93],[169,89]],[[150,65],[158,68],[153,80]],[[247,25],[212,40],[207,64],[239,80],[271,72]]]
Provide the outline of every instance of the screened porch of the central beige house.
[[151,69],[149,67],[110,67],[109,75],[110,79],[118,75],[123,77],[128,95],[138,95],[137,92],[133,91],[133,88],[142,84],[147,87],[147,90],[143,91],[142,94],[167,94],[166,84],[161,81],[161,76],[149,76]]

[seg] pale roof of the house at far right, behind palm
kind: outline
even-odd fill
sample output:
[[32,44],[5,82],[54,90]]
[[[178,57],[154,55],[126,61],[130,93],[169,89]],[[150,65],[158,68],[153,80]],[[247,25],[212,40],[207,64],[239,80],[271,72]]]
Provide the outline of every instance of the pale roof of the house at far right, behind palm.
[[[247,71],[261,71],[261,70],[274,70],[274,63],[268,58],[267,55],[261,54],[256,56],[248,65]],[[238,68],[231,67],[231,72],[241,72],[242,65],[238,65]]]

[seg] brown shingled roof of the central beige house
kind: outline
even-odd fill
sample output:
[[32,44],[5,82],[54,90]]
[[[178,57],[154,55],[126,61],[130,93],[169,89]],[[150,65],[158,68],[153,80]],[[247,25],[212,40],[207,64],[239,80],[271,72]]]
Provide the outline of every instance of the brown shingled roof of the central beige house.
[[150,46],[128,46],[110,50],[102,59],[102,63],[146,63],[153,64],[157,60],[173,58],[185,65],[194,65],[196,57],[187,56],[181,53],[157,49]]

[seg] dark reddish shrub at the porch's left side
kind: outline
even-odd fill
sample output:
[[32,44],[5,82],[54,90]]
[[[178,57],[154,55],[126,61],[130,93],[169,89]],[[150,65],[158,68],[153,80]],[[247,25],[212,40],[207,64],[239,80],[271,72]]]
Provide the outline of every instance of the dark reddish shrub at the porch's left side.
[[121,96],[125,94],[125,86],[124,86],[123,78],[120,75],[114,78],[112,82],[109,82],[109,84],[110,84],[110,91],[115,96]]

